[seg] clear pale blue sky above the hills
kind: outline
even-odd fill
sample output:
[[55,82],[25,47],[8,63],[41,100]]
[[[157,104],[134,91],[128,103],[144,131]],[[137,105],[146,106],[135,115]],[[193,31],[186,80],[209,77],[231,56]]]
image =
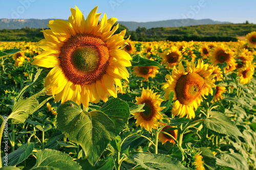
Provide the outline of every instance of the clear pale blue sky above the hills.
[[[98,6],[98,13],[119,21],[159,21],[168,19],[212,19],[256,23],[254,0],[2,0],[0,18],[68,19],[70,8],[77,6],[87,15]],[[102,15],[103,17],[103,15]]]

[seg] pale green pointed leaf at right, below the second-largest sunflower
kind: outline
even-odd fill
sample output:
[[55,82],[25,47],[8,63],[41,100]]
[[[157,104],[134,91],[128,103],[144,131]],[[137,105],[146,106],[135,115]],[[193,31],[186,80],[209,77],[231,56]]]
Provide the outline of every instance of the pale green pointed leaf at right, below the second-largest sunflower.
[[206,128],[225,135],[242,136],[237,126],[223,113],[217,111],[209,111],[209,113],[210,117],[203,120]]

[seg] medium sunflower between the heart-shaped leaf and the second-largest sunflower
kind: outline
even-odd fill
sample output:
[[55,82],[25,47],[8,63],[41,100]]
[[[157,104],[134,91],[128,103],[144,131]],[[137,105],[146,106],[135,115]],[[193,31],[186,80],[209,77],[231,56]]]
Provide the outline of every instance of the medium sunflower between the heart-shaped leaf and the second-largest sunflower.
[[141,97],[136,96],[136,104],[145,104],[143,107],[144,112],[132,113],[136,119],[136,126],[140,125],[145,130],[152,132],[152,128],[156,129],[159,126],[158,120],[163,118],[160,113],[165,107],[160,107],[162,99],[160,95],[156,95],[151,89],[142,89]]

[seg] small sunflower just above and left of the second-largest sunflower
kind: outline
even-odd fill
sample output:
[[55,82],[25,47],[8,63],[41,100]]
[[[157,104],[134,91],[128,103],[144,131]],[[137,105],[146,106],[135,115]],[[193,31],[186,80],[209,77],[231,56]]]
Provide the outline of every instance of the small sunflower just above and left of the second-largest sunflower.
[[178,65],[182,58],[182,54],[176,46],[172,46],[162,53],[161,56],[163,59],[161,64],[164,64],[167,69],[172,69],[174,66]]

